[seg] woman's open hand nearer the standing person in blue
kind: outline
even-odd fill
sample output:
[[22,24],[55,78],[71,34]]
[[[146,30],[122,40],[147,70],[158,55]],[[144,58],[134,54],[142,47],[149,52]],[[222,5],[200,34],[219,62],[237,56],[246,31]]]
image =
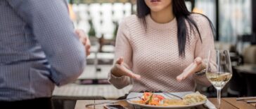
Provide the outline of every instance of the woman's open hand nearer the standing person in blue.
[[129,70],[129,67],[127,66],[127,64],[124,63],[124,59],[122,57],[118,58],[117,61],[115,61],[115,65],[111,69],[111,73],[116,77],[126,75],[136,80],[139,80],[141,78],[141,75],[137,75]]

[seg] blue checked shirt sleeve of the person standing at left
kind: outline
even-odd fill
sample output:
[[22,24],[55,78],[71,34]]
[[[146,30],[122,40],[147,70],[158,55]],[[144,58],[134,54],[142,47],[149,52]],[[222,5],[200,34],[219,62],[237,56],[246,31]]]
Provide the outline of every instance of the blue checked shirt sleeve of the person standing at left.
[[7,0],[32,29],[51,66],[56,85],[72,82],[82,73],[86,55],[75,35],[64,0]]

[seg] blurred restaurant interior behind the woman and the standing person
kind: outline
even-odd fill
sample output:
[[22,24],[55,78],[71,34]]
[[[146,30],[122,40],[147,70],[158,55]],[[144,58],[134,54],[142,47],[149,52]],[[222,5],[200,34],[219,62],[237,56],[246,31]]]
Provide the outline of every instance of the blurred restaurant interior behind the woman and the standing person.
[[[129,88],[108,83],[113,64],[115,35],[123,17],[136,14],[136,0],[69,0],[75,28],[84,29],[91,40],[87,68],[76,82],[56,87],[55,108],[75,108],[77,100],[118,99]],[[233,77],[222,96],[256,96],[256,1],[186,0],[188,9],[210,18],[216,29],[215,48],[229,50]],[[216,97],[214,87],[197,86],[207,97]]]

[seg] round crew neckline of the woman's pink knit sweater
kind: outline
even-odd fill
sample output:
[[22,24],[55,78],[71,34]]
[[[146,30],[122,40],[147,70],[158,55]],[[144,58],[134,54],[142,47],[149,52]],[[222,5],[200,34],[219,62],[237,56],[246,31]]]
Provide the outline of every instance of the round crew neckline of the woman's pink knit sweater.
[[158,23],[158,22],[155,22],[151,15],[147,15],[146,16],[146,23],[148,25],[148,27],[151,27],[153,29],[172,29],[172,27],[175,27],[177,25],[177,20],[176,20],[176,17],[174,17],[174,19],[170,22],[167,22],[167,23]]

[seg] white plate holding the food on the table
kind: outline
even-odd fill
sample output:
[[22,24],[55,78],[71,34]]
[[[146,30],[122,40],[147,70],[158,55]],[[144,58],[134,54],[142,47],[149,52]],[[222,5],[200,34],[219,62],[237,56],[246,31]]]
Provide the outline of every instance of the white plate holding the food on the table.
[[[186,94],[191,94],[191,93],[194,93],[194,92],[177,92],[177,93],[172,93],[172,94],[175,94],[177,96],[185,96]],[[165,96],[165,98],[167,98],[167,99],[171,99],[169,96],[172,96],[172,95],[166,96],[165,94],[162,94],[162,93],[155,93],[155,94],[160,94],[162,96]],[[136,97],[136,96],[143,96],[143,93],[131,92],[127,96],[127,99],[133,98],[133,97]],[[138,101],[138,100],[140,100],[140,99],[139,98],[129,99],[129,100],[127,100],[127,102],[129,104],[134,105],[134,106],[139,106],[140,108],[159,108],[159,109],[167,109],[167,108],[169,108],[169,109],[171,109],[171,108],[192,108],[192,107],[195,107],[195,106],[203,105],[203,103],[206,102],[205,101],[205,102],[200,102],[200,103],[196,103],[196,104],[193,104],[193,105],[186,105],[186,106],[148,106],[148,105],[143,105],[143,104],[132,102],[132,101]]]

